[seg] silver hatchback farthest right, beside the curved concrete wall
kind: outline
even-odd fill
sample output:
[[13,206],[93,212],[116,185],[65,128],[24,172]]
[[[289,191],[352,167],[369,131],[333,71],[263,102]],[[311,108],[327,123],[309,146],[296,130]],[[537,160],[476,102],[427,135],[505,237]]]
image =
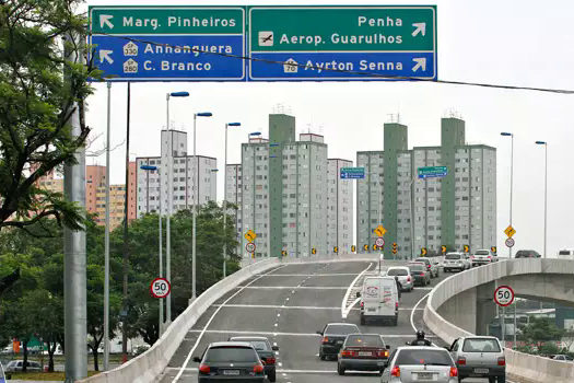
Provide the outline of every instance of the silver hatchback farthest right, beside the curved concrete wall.
[[492,336],[469,336],[456,339],[448,348],[458,367],[460,380],[465,378],[488,378],[505,382],[506,359],[497,338]]

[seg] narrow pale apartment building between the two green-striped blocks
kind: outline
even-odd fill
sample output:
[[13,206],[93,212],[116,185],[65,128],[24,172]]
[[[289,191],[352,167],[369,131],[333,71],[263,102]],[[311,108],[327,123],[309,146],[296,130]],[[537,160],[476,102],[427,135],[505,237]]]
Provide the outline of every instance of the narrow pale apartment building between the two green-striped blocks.
[[350,253],[353,244],[353,181],[341,179],[341,167],[353,162],[328,159],[327,164],[327,252]]

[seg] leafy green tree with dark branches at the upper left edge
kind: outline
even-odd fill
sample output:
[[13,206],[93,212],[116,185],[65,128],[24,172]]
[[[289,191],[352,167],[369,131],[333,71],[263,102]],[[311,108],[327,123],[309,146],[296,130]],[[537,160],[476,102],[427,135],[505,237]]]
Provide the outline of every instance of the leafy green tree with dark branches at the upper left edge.
[[[0,1],[0,229],[26,229],[49,217],[81,228],[75,205],[35,184],[74,161],[90,132],[83,118],[92,93],[86,79],[101,71],[92,62],[67,61],[65,49],[84,57],[89,47],[71,38],[62,43],[67,35],[80,40],[85,34],[86,18],[75,13],[81,2]],[[77,109],[81,134],[74,137],[68,120]]]

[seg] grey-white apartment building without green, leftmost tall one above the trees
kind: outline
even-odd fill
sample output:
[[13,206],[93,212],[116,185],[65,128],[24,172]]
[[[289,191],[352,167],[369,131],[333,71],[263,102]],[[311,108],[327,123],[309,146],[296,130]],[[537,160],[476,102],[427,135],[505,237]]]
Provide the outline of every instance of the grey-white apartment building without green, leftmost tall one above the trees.
[[[195,204],[216,200],[218,160],[187,153],[187,132],[162,130],[161,156],[139,156],[137,163],[138,217],[160,210],[167,212],[169,176],[172,172],[172,212],[189,209]],[[172,163],[172,166],[168,164]],[[142,170],[156,166],[156,171]],[[197,187],[194,183],[197,183]],[[197,190],[197,193],[196,193]]]

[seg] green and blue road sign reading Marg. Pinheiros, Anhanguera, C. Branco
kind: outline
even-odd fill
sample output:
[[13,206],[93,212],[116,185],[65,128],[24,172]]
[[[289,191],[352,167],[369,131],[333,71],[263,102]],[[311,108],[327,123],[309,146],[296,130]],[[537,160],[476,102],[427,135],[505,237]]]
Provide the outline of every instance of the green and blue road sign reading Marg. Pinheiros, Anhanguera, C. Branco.
[[245,81],[245,7],[90,7],[110,81]]

